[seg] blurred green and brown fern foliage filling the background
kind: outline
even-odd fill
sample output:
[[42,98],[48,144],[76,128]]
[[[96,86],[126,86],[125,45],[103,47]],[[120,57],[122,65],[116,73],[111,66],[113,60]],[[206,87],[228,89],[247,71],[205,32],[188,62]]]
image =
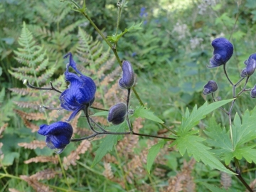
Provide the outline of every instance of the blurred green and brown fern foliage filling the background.
[[[105,36],[112,36],[116,29],[117,1],[90,0],[86,4],[89,16],[100,30]],[[166,124],[179,127],[186,108],[191,112],[196,104],[200,107],[209,100],[202,95],[203,85],[208,80],[218,80],[216,95],[223,100],[231,98],[231,88],[222,70],[206,69],[213,50],[210,42],[219,36],[230,38],[235,53],[228,63],[228,74],[231,80],[238,81],[243,61],[255,52],[255,8],[254,0],[129,1],[119,32],[140,22],[142,29],[121,38],[118,54],[134,66],[136,88],[146,106]],[[109,108],[115,102],[122,102],[124,97],[115,83],[121,69],[90,23],[72,11],[66,2],[1,1],[0,28],[1,191],[11,191],[11,188],[31,191],[35,186],[45,191],[206,191],[206,188],[214,191],[216,186],[230,191],[245,190],[235,176],[196,163],[187,154],[181,156],[178,149],[158,144],[157,139],[119,138],[114,141],[117,143],[113,145],[114,150],[94,167],[91,165],[100,143],[97,139],[70,145],[63,154],[55,156],[44,147],[43,137],[36,131],[39,124],[65,119],[68,114],[41,112],[38,105],[42,103],[58,107],[58,95],[28,90],[22,79],[30,75],[30,82],[41,86],[49,86],[53,81],[64,90],[66,60],[63,61],[63,55],[72,52],[82,73],[90,75],[97,83],[95,105]],[[35,75],[43,78],[35,78]],[[248,86],[252,87],[255,82],[252,76]],[[243,122],[253,117],[255,104],[248,94],[235,102],[234,124],[245,127],[245,134],[250,134],[249,128],[253,128]],[[132,109],[138,105],[137,100],[131,100]],[[245,115],[241,117],[242,114]],[[107,124],[104,117],[95,117],[95,120]],[[88,133],[85,123],[82,118],[73,121],[75,136]],[[228,119],[220,110],[215,110],[194,128],[202,136],[208,136],[206,146],[216,146],[213,140],[216,133],[223,132],[218,138],[220,141],[228,137],[228,130],[216,124],[228,126]],[[148,119],[134,120],[134,129],[144,134],[168,135],[166,129]],[[189,137],[195,139],[193,135]],[[236,141],[238,149],[248,154],[255,151],[253,142],[246,146],[242,139]],[[149,149],[161,149],[150,174],[146,171]],[[255,157],[242,155],[239,150],[230,156],[221,147],[215,150],[225,162],[230,161],[230,156],[243,157],[240,161],[243,176],[254,188]],[[59,180],[59,176],[62,179]]]

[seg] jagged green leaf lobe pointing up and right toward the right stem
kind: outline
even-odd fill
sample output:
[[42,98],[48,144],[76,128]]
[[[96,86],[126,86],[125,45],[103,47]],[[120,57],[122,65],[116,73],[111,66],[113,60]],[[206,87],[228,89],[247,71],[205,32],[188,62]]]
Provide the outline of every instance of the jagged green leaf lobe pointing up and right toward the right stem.
[[179,127],[179,129],[178,129],[178,134],[183,135],[183,134],[188,133],[194,126],[196,126],[196,124],[198,124],[198,122],[201,119],[205,118],[206,114],[212,112],[213,110],[218,109],[218,107],[221,107],[233,100],[234,99],[213,102],[210,105],[207,105],[207,102],[206,102],[203,106],[201,106],[199,108],[197,108],[197,106],[195,106],[193,108],[191,114],[189,113],[189,111],[187,109],[186,113],[182,119],[181,127]]

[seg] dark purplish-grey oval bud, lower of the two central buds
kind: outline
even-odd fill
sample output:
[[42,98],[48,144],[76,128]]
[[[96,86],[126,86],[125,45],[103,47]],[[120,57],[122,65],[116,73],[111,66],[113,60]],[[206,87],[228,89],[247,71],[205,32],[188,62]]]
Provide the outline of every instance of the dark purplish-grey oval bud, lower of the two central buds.
[[124,122],[126,114],[127,105],[123,102],[119,102],[117,105],[114,105],[110,108],[107,121],[112,122],[112,124],[121,124]]

